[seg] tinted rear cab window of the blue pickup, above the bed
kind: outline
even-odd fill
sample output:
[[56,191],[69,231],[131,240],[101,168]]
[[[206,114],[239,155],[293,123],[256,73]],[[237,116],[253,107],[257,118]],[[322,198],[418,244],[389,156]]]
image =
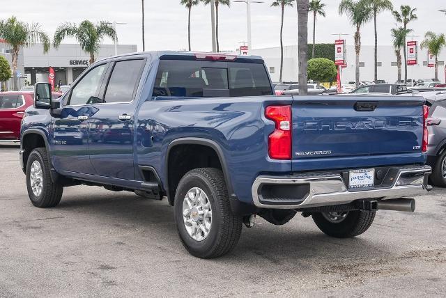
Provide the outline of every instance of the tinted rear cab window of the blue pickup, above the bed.
[[154,97],[273,95],[263,63],[160,60]]

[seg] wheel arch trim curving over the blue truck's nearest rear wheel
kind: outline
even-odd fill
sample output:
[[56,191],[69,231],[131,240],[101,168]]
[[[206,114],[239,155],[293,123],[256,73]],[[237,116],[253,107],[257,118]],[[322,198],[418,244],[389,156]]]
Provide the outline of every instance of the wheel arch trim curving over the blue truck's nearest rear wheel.
[[186,137],[186,138],[180,138],[180,139],[175,139],[174,141],[171,141],[171,143],[169,143],[169,146],[167,147],[166,159],[164,162],[165,182],[166,182],[164,188],[166,189],[167,196],[169,198],[169,204],[174,205],[174,199],[175,199],[175,194],[174,194],[173,190],[171,189],[172,186],[169,183],[169,161],[171,159],[171,152],[177,146],[187,146],[187,145],[204,146],[204,147],[210,148],[210,150],[213,150],[213,152],[215,152],[215,155],[217,156],[217,158],[220,162],[220,166],[221,166],[221,169],[223,172],[224,182],[226,183],[226,189],[228,190],[228,194],[230,197],[235,196],[233,194],[233,187],[232,187],[231,179],[229,176],[229,170],[227,167],[226,158],[224,157],[224,153],[223,153],[221,146],[217,142],[210,140],[210,139]]

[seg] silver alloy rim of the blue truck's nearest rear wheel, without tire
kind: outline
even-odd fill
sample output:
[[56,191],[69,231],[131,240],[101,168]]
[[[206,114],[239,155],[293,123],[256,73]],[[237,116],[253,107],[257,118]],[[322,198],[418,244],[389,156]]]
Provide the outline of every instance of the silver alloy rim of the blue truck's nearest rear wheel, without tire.
[[212,226],[212,208],[203,189],[194,187],[187,191],[183,200],[184,226],[190,237],[203,241],[208,237]]

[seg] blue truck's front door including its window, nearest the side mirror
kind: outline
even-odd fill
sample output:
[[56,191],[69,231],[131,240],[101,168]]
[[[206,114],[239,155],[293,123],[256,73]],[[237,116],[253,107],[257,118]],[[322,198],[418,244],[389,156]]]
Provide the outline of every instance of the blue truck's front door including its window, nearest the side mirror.
[[87,72],[62,98],[61,115],[54,118],[53,162],[58,171],[95,174],[89,159],[90,118],[97,112],[91,102],[98,98],[107,64]]

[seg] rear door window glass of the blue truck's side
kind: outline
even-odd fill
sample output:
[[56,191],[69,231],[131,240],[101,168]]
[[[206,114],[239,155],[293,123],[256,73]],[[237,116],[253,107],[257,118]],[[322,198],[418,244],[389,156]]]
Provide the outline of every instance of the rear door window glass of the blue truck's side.
[[144,60],[128,60],[116,62],[107,84],[104,102],[131,102],[134,97]]

